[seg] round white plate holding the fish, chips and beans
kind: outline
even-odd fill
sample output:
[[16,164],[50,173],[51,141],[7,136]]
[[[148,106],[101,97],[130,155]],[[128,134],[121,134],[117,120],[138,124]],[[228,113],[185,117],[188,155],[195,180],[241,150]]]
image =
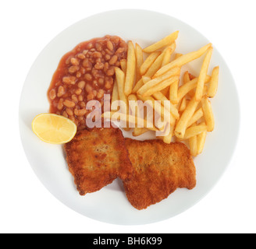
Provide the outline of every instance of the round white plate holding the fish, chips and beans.
[[[201,33],[171,16],[145,10],[104,12],[83,19],[55,37],[39,54],[27,75],[20,98],[20,135],[35,174],[44,186],[69,208],[105,223],[136,225],[176,216],[203,198],[219,181],[233,155],[239,132],[240,107],[236,86],[222,56],[214,47],[209,72],[220,66],[219,90],[212,100],[215,131],[208,134],[204,153],[197,156],[197,187],[178,189],[162,202],[138,211],[127,201],[118,179],[101,191],[80,196],[69,173],[62,146],[41,142],[31,130],[33,118],[48,112],[47,89],[63,54],[81,41],[106,34],[133,40],[142,47],[180,30],[176,51],[187,53],[209,43]],[[214,46],[214,44],[213,44]],[[188,65],[197,74],[201,59]],[[147,139],[146,136],[143,139]],[[33,188],[33,186],[31,186]]]

